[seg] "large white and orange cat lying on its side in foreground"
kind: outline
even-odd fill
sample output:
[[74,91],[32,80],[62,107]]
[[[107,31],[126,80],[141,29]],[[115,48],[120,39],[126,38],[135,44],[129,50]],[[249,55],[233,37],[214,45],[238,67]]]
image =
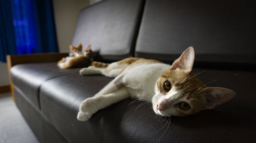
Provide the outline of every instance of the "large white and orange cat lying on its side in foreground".
[[194,58],[194,48],[188,47],[172,66],[142,58],[112,64],[93,62],[80,74],[103,74],[115,79],[81,103],[77,119],[86,121],[99,109],[130,97],[152,102],[155,113],[166,117],[193,115],[233,98],[232,90],[206,87],[191,73]]

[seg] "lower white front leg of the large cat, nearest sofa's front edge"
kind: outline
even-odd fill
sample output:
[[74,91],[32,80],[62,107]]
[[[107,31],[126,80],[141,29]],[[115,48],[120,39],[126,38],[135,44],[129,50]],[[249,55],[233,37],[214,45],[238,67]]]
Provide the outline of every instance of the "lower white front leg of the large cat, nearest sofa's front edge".
[[92,117],[92,115],[98,110],[126,99],[130,96],[129,92],[125,89],[119,89],[113,93],[106,95],[98,95],[91,98],[87,98],[82,102],[79,108],[77,119],[80,121],[86,121]]

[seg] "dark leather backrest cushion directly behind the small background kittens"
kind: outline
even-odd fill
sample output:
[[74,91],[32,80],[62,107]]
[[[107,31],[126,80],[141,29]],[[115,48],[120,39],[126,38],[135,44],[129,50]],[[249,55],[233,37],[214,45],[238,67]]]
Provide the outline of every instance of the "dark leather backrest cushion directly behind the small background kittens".
[[143,6],[143,0],[105,0],[82,9],[72,45],[91,44],[98,61],[133,56]]

